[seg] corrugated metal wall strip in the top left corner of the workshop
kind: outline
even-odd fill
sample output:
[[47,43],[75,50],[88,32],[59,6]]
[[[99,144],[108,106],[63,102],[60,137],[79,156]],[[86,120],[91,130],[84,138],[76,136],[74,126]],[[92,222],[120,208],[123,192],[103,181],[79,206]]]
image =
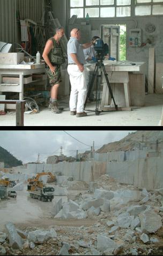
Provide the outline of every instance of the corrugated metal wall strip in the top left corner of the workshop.
[[16,0],[0,0],[0,41],[16,40]]

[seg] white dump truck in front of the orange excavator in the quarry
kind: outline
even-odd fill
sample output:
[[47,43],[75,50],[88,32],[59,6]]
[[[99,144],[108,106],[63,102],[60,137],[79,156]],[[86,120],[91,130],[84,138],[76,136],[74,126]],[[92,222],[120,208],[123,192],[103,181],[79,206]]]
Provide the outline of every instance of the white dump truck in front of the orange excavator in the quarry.
[[42,202],[48,200],[51,202],[54,198],[54,188],[52,186],[43,186],[42,188],[37,186],[35,189],[31,189],[31,185],[28,185],[27,188],[31,198],[39,199]]

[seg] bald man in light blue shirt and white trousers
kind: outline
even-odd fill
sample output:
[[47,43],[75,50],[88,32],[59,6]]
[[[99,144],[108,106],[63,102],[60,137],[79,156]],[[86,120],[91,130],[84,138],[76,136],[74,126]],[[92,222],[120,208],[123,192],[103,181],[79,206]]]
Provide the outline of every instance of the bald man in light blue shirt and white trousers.
[[83,49],[92,45],[79,43],[81,33],[79,29],[71,30],[71,37],[68,41],[68,73],[71,82],[70,114],[76,117],[87,116],[84,112],[84,103],[87,95],[86,69],[84,67],[85,57]]

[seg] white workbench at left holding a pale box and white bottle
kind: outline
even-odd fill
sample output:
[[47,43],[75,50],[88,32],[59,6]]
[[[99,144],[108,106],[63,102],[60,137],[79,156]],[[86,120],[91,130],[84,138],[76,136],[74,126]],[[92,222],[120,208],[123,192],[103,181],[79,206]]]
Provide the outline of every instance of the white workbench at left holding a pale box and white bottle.
[[[45,64],[0,65],[0,94],[2,94],[2,92],[18,92],[19,100],[24,100],[24,85],[36,82],[36,80],[32,80],[32,74],[45,72]],[[29,75],[30,77],[25,80],[24,77],[26,75]],[[13,76],[11,82],[4,82],[3,77],[8,76],[11,78]],[[18,82],[12,82],[16,76],[19,77]]]

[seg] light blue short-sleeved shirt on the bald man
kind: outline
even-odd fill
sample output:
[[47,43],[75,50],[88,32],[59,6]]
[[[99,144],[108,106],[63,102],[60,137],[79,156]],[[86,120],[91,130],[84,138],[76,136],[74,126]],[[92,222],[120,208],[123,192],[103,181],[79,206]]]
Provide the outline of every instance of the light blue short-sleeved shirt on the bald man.
[[75,37],[70,37],[68,41],[68,63],[75,63],[70,56],[70,53],[77,54],[77,59],[81,64],[85,64],[85,57],[83,52],[83,46],[79,43]]

